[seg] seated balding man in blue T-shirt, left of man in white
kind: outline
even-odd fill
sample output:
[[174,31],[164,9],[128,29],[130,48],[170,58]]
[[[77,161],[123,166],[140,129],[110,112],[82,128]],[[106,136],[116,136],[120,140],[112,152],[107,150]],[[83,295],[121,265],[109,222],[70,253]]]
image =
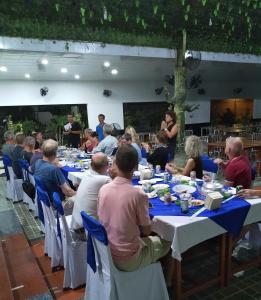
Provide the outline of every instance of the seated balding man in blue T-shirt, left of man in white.
[[53,192],[61,196],[72,197],[76,192],[70,188],[59,167],[56,166],[56,153],[58,143],[54,140],[46,140],[42,145],[43,159],[35,163],[34,175],[44,184],[49,197],[52,199]]

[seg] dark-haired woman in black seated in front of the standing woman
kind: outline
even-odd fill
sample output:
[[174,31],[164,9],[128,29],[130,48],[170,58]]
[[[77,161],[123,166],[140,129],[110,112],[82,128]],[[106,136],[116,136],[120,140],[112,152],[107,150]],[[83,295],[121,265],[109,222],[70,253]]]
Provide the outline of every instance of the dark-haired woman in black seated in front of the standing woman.
[[154,151],[152,151],[151,146],[149,144],[142,144],[142,146],[146,149],[147,161],[148,163],[153,165],[153,168],[155,168],[156,165],[160,165],[162,170],[165,169],[165,165],[168,162],[169,158],[167,142],[168,141],[165,134],[162,131],[160,131],[156,135],[157,147]]

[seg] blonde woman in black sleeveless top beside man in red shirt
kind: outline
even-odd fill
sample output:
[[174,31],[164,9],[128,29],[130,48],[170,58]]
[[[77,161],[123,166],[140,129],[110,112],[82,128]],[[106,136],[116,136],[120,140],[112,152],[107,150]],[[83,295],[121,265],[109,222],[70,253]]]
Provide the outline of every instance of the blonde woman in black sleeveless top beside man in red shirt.
[[203,165],[201,160],[202,143],[198,136],[191,135],[186,139],[185,153],[188,157],[184,168],[176,167],[173,163],[166,165],[166,170],[174,173],[175,171],[181,172],[184,176],[190,176],[191,171],[196,172],[196,177],[202,179]]

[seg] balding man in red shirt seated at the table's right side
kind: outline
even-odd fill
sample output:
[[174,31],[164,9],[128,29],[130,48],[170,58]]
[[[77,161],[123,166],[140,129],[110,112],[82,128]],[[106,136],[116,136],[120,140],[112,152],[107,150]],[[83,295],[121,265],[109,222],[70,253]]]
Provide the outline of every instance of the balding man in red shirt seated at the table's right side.
[[225,154],[229,158],[227,162],[217,158],[216,164],[224,169],[225,185],[236,187],[242,185],[248,189],[251,185],[251,166],[248,158],[243,154],[243,143],[238,137],[226,139]]

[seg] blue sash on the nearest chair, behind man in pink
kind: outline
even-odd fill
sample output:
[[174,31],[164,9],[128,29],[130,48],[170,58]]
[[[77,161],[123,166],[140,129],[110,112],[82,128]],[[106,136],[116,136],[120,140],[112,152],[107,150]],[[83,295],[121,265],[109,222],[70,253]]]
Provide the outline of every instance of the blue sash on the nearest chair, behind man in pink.
[[95,238],[98,241],[102,242],[104,245],[108,246],[108,238],[105,228],[101,223],[91,216],[88,216],[85,211],[81,212],[83,227],[88,231],[88,240],[87,240],[87,263],[92,268],[93,272],[96,272],[96,259],[95,251],[93,247],[92,239]]

